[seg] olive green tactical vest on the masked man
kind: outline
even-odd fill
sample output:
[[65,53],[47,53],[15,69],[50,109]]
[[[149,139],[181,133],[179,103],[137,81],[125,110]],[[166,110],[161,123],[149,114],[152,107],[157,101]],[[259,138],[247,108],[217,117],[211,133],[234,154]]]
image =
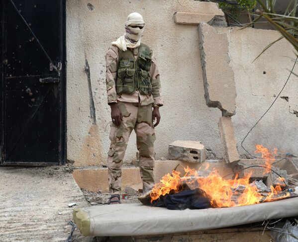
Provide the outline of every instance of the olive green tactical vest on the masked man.
[[138,48],[138,57],[135,59],[131,49],[119,49],[119,62],[116,79],[116,92],[132,94],[138,90],[143,95],[151,95],[150,79],[151,50],[142,44]]

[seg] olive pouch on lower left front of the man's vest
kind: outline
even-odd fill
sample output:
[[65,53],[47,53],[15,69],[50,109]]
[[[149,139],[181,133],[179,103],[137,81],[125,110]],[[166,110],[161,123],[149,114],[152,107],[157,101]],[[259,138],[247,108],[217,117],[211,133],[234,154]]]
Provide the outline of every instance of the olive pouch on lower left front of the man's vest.
[[117,94],[132,94],[135,91],[134,69],[118,69],[116,92]]

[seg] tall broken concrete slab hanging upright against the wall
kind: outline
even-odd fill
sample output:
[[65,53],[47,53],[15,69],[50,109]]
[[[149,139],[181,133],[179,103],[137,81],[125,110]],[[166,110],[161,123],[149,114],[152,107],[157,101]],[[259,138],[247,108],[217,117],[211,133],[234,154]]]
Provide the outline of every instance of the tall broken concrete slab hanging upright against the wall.
[[227,32],[206,23],[199,24],[199,48],[205,100],[208,107],[217,107],[222,116],[232,116],[236,109],[234,72],[229,65]]

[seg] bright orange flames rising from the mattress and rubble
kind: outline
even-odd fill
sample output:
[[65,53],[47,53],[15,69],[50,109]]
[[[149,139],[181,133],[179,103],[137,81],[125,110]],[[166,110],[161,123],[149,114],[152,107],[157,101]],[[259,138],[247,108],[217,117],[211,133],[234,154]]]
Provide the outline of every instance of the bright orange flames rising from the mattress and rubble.
[[[272,153],[262,145],[256,145],[256,153],[262,153],[262,158],[265,159],[265,172],[270,172],[272,163],[275,161],[274,155],[277,150],[274,149]],[[209,164],[203,170],[207,170]],[[180,172],[173,170],[172,174],[166,174],[161,181],[155,184],[150,193],[151,202],[157,200],[160,196],[166,194],[176,193],[182,190],[182,184],[186,183],[191,189],[200,188],[209,197],[212,207],[234,207],[256,204],[260,202],[268,202],[273,200],[289,197],[290,193],[285,195],[276,195],[282,192],[284,186],[284,178],[280,178],[281,184],[276,187],[271,186],[271,192],[264,197],[260,189],[255,183],[250,183],[251,174],[244,178],[238,178],[236,175],[234,179],[223,179],[218,171],[213,169],[206,176],[200,176],[199,171],[186,167],[184,176],[180,176]],[[274,197],[276,196],[276,197]]]

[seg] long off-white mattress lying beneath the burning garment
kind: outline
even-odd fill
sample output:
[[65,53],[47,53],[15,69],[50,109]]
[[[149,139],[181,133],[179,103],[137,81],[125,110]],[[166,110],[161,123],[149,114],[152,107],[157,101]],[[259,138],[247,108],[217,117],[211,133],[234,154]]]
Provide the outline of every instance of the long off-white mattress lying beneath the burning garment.
[[91,236],[162,235],[298,216],[298,197],[231,208],[168,210],[142,204],[92,206]]

